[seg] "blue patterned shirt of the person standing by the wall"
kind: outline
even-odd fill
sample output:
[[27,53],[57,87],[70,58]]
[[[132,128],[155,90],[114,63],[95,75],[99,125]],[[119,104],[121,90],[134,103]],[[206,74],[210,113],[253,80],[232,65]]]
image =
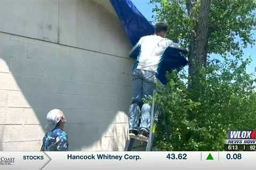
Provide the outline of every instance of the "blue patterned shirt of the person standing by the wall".
[[47,132],[43,138],[43,151],[68,151],[68,134],[59,128]]

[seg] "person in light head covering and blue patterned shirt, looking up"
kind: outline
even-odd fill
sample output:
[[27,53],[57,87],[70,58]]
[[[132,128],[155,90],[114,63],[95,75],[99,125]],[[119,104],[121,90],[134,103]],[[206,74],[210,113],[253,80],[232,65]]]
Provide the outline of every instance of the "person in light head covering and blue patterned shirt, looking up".
[[53,109],[46,116],[46,134],[43,138],[41,151],[68,151],[68,134],[63,131],[67,122],[59,109]]

